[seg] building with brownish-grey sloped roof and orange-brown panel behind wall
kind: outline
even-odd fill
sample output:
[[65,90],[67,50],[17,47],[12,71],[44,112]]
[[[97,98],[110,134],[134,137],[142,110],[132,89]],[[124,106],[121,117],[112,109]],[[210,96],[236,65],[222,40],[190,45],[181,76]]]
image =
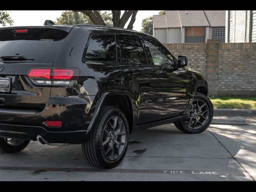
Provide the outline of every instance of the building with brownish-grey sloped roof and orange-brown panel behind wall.
[[153,16],[153,36],[163,43],[225,42],[225,11],[166,10]]

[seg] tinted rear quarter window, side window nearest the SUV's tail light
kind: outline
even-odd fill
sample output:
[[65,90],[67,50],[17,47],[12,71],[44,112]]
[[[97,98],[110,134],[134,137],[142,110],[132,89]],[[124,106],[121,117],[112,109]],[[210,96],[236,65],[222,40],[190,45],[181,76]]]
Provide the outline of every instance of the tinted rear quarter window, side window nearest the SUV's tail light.
[[114,35],[92,35],[85,60],[116,62],[116,40]]

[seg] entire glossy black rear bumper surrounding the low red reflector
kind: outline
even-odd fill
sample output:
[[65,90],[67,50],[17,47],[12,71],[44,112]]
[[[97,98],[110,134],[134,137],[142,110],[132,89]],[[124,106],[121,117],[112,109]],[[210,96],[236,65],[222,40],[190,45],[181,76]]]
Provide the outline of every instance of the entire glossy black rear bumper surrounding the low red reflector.
[[[86,139],[94,108],[89,96],[50,97],[42,112],[0,110],[0,137],[48,143],[80,144]],[[88,110],[89,109],[89,110]],[[61,127],[48,127],[46,120],[62,121]]]

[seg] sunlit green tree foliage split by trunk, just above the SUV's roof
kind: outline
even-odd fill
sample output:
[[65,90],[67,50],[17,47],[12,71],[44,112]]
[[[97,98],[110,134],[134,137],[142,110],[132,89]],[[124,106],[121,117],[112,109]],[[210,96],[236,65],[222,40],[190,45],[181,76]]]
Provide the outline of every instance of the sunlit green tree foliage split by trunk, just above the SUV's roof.
[[[110,11],[99,11],[102,19],[107,26],[113,26],[112,13]],[[61,16],[54,22],[56,25],[75,25],[75,24],[91,24],[90,18],[81,12],[64,11]]]

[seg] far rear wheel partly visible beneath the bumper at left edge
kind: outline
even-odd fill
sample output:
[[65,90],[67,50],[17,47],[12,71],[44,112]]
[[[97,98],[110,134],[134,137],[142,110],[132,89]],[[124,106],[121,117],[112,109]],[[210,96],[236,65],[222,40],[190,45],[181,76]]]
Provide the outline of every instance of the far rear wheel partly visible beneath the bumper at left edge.
[[1,153],[17,153],[28,146],[30,140],[0,138]]

